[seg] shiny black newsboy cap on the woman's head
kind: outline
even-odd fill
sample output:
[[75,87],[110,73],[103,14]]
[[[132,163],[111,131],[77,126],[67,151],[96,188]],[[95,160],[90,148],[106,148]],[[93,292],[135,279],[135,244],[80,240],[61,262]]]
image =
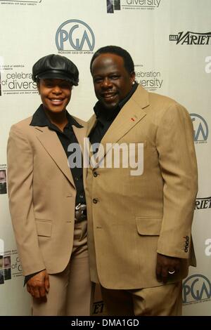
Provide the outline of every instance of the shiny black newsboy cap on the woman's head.
[[40,58],[32,67],[32,79],[64,79],[77,86],[79,72],[77,66],[65,56],[46,55]]

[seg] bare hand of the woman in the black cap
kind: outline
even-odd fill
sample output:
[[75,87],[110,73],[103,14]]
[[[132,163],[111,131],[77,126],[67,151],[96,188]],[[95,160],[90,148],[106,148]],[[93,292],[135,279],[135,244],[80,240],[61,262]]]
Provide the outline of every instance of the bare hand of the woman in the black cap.
[[46,297],[49,287],[49,275],[46,270],[42,270],[27,281],[27,291],[33,298]]

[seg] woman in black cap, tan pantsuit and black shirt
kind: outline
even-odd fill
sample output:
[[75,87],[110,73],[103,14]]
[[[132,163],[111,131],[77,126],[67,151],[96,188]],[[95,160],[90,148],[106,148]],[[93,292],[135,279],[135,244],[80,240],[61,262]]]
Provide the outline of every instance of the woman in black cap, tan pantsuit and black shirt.
[[66,110],[79,72],[51,54],[34,64],[32,79],[42,104],[8,139],[9,204],[27,291],[33,315],[90,315],[82,167],[68,168],[68,146],[82,144],[87,131]]

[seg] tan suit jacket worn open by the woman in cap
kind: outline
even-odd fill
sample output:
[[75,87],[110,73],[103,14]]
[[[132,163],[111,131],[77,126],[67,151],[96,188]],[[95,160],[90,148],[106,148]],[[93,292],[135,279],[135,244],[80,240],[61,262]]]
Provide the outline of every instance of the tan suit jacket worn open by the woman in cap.
[[[72,126],[82,145],[87,131]],[[11,127],[8,139],[9,206],[23,274],[61,272],[70,260],[76,189],[55,131],[30,126],[32,117]]]

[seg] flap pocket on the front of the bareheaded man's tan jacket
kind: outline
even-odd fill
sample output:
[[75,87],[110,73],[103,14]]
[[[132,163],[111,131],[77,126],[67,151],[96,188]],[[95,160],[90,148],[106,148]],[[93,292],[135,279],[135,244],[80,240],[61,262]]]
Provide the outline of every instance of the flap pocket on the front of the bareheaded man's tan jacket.
[[136,217],[136,227],[139,235],[160,235],[162,218]]

